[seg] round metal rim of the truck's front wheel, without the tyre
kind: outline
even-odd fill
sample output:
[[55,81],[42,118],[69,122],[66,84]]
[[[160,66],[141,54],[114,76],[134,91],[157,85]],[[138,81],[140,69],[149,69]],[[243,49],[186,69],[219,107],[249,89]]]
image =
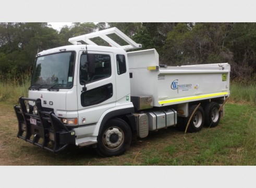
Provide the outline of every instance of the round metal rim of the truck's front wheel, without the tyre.
[[117,127],[110,127],[105,130],[102,141],[107,149],[117,149],[124,142],[124,132]]

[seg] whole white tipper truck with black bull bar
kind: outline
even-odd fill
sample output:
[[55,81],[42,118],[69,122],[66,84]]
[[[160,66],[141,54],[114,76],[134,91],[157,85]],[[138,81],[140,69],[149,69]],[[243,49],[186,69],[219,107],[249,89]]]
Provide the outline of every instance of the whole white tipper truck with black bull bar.
[[[127,44],[107,36],[113,33]],[[96,45],[95,37],[109,46]],[[36,55],[29,97],[14,106],[18,138],[54,153],[75,144],[114,156],[134,135],[145,138],[169,126],[196,132],[217,126],[224,115],[228,63],[159,64],[155,49],[126,52],[141,44],[117,28],[69,42]]]

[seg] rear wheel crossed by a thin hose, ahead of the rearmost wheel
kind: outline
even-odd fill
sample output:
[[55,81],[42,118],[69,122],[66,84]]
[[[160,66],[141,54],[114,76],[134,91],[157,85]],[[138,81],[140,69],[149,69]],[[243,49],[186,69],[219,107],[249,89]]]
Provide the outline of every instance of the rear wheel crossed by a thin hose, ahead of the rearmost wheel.
[[[185,126],[187,126],[190,116],[192,115],[192,113],[194,112],[194,109],[196,108],[197,108],[197,105],[189,106],[189,116],[185,120]],[[198,132],[202,129],[203,125],[204,125],[204,111],[202,106],[199,106],[197,111],[194,113],[192,119],[190,120],[190,123],[188,125],[188,131]]]

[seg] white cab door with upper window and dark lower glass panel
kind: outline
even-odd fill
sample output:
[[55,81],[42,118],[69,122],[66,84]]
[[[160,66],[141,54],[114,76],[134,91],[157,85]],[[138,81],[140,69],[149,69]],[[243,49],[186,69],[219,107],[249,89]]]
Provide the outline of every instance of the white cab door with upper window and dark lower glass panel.
[[78,61],[78,124],[93,126],[106,110],[115,107],[114,55],[80,51]]

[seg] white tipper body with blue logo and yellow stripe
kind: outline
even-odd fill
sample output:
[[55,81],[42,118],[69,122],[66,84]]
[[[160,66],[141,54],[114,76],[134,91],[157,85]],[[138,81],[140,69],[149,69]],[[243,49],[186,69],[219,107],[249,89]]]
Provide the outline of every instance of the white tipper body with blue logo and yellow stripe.
[[156,57],[155,50],[128,53],[131,96],[152,95],[156,107],[229,96],[228,63],[162,68]]

